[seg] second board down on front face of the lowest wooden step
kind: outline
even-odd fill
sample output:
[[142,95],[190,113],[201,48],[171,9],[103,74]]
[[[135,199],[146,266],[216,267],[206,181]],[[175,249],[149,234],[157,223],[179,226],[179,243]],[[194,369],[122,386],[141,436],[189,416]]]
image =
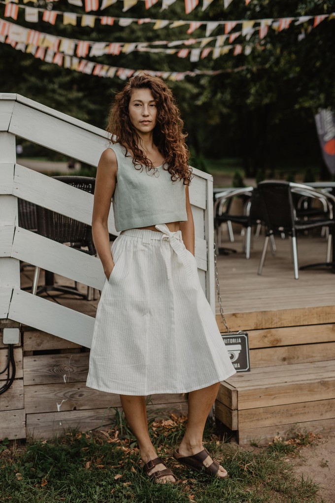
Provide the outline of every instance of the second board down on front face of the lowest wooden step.
[[335,419],[335,398],[239,410],[238,429],[246,430],[330,418]]

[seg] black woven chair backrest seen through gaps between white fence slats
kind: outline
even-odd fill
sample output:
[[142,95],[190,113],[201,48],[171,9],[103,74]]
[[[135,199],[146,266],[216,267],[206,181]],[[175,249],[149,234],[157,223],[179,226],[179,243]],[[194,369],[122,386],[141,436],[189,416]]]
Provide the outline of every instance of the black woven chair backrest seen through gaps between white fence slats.
[[[94,194],[95,178],[76,176],[53,178]],[[91,226],[40,206],[37,206],[36,210],[38,234],[61,243],[70,242],[73,246],[88,245],[93,251]]]

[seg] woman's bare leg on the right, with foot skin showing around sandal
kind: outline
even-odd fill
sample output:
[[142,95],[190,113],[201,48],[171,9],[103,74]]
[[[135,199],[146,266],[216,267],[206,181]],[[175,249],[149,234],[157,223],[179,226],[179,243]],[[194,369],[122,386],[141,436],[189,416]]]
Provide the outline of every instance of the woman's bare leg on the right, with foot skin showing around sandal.
[[[212,408],[220,383],[213,384],[207,388],[197,389],[189,393],[189,414],[188,423],[184,438],[179,446],[178,452],[182,456],[193,456],[203,450],[203,433],[206,424],[206,419]],[[205,460],[206,466],[212,463],[212,459],[208,457]],[[219,477],[227,475],[226,470],[220,466]]]

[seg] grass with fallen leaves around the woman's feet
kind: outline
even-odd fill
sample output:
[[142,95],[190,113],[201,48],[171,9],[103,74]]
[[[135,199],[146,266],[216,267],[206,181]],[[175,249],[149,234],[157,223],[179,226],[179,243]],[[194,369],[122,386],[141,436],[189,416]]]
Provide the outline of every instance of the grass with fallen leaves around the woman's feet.
[[[185,417],[150,419],[159,455],[173,469],[177,484],[154,484],[141,473],[140,455],[123,416],[108,431],[70,431],[58,439],[4,442],[0,454],[0,501],[11,503],[316,503],[317,486],[295,479],[287,456],[296,455],[301,438],[277,438],[268,447],[241,449],[220,441],[208,424],[205,445],[228,470],[222,481],[190,472],[171,457],[181,440]],[[275,445],[274,445],[275,444]],[[279,448],[279,446],[281,447]],[[290,446],[289,451],[283,446]]]

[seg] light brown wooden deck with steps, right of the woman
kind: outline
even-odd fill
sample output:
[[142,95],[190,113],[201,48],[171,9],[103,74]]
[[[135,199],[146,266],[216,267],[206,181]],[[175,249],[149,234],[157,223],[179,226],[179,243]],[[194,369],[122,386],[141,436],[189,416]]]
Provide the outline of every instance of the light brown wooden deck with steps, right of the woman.
[[[335,429],[335,275],[309,269],[295,280],[290,241],[277,238],[277,254],[269,247],[259,276],[263,242],[254,239],[247,261],[240,239],[225,241],[238,253],[218,258],[228,325],[249,337],[251,371],[221,383],[215,407],[239,443]],[[322,262],[325,254],[324,238],[299,236],[299,266]]]

